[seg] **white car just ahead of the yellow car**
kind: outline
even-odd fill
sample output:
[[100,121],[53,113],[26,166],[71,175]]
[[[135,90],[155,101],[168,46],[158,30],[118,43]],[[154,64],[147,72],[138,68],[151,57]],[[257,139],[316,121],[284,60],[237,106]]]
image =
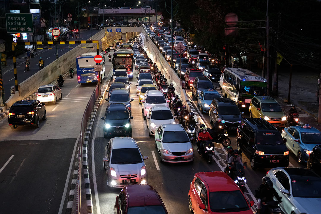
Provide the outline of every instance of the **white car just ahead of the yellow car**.
[[149,112],[149,109],[154,107],[154,106],[167,106],[169,100],[166,100],[164,97],[163,92],[161,91],[146,91],[144,94],[144,97],[142,99],[142,113],[143,113],[143,118],[146,120],[147,113]]

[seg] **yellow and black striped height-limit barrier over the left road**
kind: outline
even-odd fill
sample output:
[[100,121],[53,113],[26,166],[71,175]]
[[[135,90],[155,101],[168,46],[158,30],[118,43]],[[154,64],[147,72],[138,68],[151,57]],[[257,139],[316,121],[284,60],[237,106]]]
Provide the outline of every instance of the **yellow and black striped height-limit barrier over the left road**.
[[[97,54],[99,54],[99,43],[98,40],[74,40],[74,41],[39,41],[39,42],[13,42],[12,51],[13,51],[13,73],[14,73],[14,84],[15,90],[18,90],[18,77],[17,77],[17,64],[16,64],[16,51],[15,46],[17,45],[63,45],[63,44],[96,44],[97,45]],[[73,48],[73,47],[56,47],[56,48]],[[87,48],[87,47],[76,47],[76,48]],[[92,48],[92,47],[90,47]],[[52,47],[47,48],[37,48],[37,49],[52,49]]]

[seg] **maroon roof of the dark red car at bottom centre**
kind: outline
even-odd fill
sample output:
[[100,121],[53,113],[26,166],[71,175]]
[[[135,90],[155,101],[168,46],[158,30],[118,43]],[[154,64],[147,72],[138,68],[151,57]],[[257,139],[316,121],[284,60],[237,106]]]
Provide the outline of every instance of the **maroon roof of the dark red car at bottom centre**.
[[127,206],[163,205],[159,194],[150,184],[131,184],[124,187]]

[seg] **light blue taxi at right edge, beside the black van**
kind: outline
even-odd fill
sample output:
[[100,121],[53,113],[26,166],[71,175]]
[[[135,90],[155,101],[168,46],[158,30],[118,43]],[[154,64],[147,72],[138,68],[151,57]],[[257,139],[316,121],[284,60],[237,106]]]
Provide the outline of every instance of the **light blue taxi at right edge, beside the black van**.
[[321,132],[314,127],[290,126],[282,130],[286,147],[298,157],[298,162],[307,162],[313,147],[321,144]]

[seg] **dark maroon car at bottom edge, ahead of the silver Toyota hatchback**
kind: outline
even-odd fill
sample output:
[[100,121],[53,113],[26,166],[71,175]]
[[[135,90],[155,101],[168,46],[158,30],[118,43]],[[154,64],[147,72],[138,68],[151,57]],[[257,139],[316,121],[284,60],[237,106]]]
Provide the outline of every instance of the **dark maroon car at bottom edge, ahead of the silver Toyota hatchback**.
[[149,184],[126,185],[116,197],[114,213],[168,214],[160,195]]

